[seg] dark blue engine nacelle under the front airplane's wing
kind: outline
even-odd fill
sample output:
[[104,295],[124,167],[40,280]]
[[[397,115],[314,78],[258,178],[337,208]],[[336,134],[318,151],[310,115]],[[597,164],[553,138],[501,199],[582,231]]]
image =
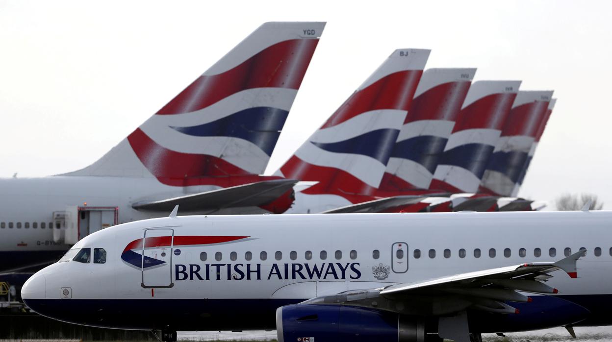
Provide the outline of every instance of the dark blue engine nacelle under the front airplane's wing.
[[424,342],[426,337],[425,324],[420,319],[343,305],[294,304],[278,308],[276,329],[278,342]]

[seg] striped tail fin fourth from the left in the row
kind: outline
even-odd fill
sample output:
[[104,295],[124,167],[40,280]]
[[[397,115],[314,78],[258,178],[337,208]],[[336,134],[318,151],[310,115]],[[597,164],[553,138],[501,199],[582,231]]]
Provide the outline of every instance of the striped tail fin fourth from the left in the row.
[[472,83],[457,116],[430,189],[474,193],[499,139],[520,81]]

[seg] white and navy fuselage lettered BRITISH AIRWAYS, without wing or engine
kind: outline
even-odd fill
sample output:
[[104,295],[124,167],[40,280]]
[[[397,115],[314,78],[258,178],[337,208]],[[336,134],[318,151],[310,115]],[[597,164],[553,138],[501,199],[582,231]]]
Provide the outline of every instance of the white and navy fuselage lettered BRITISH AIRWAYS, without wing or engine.
[[76,324],[274,329],[274,313],[282,305],[353,289],[557,261],[585,248],[577,279],[559,270],[548,280],[558,294],[530,294],[532,302],[514,305],[520,314],[486,313],[474,319],[480,332],[608,325],[611,219],[612,212],[158,218],[80,240],[75,253],[102,248],[105,262],[57,262],[31,277],[21,294],[32,310]]

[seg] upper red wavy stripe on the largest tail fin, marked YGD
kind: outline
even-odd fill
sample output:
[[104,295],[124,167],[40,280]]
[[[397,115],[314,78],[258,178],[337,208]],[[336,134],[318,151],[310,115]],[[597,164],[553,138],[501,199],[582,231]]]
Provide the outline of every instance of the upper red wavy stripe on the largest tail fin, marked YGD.
[[318,41],[285,40],[268,46],[226,72],[200,76],[156,114],[181,114],[201,110],[246,89],[299,89]]

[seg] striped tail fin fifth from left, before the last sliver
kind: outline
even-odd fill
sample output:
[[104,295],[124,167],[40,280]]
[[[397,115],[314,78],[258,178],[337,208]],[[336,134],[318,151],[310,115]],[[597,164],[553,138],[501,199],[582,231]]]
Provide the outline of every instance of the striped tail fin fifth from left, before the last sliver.
[[487,163],[479,192],[512,195],[552,96],[552,91],[518,92]]

